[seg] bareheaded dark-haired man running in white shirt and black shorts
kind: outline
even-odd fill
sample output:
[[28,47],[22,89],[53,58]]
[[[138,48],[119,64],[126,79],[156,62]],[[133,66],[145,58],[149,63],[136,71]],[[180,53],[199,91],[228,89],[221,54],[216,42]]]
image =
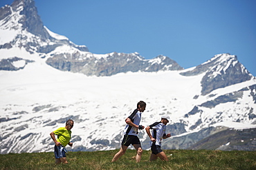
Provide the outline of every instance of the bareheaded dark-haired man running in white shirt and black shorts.
[[141,148],[140,140],[138,139],[138,129],[144,129],[143,125],[140,125],[141,114],[146,109],[146,103],[143,101],[139,101],[137,103],[137,109],[131,113],[131,115],[125,119],[125,126],[124,130],[124,138],[122,139],[122,146],[120,151],[113,156],[112,162],[115,162],[120,158],[125,151],[129,147],[129,145],[133,145],[137,151],[136,154],[136,162],[140,162],[141,155],[143,153],[143,149]]

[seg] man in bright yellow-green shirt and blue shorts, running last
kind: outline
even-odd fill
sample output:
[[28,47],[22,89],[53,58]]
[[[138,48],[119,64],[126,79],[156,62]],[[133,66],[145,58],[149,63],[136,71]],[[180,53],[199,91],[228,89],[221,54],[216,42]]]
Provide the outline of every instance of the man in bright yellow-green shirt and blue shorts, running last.
[[[60,164],[61,162],[67,164],[66,161],[66,145],[73,146],[73,142],[69,142],[71,139],[71,129],[74,125],[74,121],[69,119],[66,121],[65,127],[60,127],[59,129],[52,131],[50,136],[55,142],[54,153],[55,153],[55,163]],[[57,135],[57,140],[55,138]]]

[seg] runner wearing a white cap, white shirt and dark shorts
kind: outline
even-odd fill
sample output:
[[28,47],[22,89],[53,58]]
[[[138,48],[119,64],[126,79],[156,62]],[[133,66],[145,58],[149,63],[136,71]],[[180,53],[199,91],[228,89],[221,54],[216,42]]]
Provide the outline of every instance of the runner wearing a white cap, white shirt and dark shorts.
[[[165,134],[166,125],[169,123],[169,120],[169,116],[162,116],[161,122],[156,122],[146,127],[147,135],[151,140],[150,146],[152,153],[150,161],[156,160],[158,157],[161,158],[161,160],[168,160],[165,152],[161,149],[161,142],[163,139],[171,137],[171,134]],[[152,134],[150,133],[150,129],[152,129]]]

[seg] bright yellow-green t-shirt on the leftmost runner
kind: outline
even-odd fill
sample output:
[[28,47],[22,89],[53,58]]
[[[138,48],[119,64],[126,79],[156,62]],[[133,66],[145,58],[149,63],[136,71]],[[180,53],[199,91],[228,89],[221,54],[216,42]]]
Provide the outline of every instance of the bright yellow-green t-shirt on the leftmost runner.
[[65,127],[60,127],[59,129],[53,131],[57,135],[57,141],[60,142],[64,147],[68,145],[71,139],[71,131],[68,131]]

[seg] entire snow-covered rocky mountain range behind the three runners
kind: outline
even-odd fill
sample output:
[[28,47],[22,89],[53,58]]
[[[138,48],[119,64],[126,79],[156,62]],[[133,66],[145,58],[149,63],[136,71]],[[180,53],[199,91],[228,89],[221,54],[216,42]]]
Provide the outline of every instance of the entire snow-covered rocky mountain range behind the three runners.
[[[147,103],[142,125],[172,118],[164,149],[188,149],[227,128],[256,128],[256,80],[237,56],[217,54],[183,70],[167,56],[92,54],[48,30],[33,0],[0,9],[0,80],[0,153],[53,151],[49,134],[68,118],[75,121],[68,150],[119,148],[139,100]],[[144,130],[139,137],[149,149]],[[256,130],[246,145],[255,138]]]

